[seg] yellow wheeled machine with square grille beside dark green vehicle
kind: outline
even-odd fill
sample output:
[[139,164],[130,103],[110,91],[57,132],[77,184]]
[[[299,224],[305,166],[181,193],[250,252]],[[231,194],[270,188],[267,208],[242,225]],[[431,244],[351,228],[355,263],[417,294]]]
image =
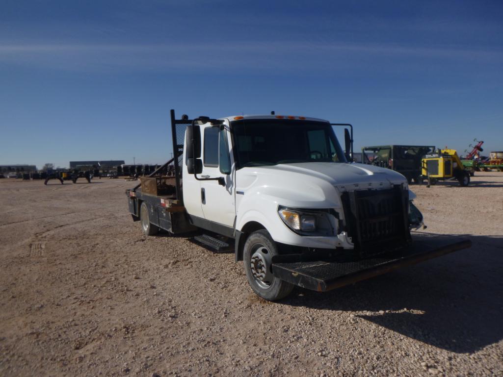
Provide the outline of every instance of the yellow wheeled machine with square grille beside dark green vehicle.
[[470,183],[470,173],[465,170],[455,149],[437,149],[435,153],[425,155],[421,160],[421,174],[428,179],[428,186],[438,180],[457,179],[462,186]]

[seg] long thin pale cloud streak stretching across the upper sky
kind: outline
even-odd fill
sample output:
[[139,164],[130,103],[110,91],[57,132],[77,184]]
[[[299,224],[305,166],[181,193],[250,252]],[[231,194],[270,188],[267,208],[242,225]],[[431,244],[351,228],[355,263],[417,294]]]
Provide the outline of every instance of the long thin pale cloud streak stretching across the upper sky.
[[[445,46],[310,42],[3,44],[0,62],[67,70],[337,69],[379,59],[503,63],[503,51]],[[309,65],[306,66],[306,62]]]

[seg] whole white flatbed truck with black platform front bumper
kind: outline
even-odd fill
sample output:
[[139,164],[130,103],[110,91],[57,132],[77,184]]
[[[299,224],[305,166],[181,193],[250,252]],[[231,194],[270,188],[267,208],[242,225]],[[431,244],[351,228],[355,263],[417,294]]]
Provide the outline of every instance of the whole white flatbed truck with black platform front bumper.
[[[171,111],[175,157],[126,191],[146,235],[188,234],[244,261],[266,300],[327,291],[470,246],[411,236],[423,225],[407,179],[351,161],[353,127],[316,118]],[[334,127],[346,126],[345,149]],[[174,164],[174,176],[162,176]]]

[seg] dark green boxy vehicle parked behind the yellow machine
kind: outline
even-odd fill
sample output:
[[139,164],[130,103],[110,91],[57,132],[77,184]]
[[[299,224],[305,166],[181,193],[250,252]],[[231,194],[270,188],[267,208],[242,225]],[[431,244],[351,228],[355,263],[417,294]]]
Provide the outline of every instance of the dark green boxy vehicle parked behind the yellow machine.
[[409,183],[421,179],[421,159],[435,151],[427,145],[377,145],[362,148],[363,162],[398,171]]

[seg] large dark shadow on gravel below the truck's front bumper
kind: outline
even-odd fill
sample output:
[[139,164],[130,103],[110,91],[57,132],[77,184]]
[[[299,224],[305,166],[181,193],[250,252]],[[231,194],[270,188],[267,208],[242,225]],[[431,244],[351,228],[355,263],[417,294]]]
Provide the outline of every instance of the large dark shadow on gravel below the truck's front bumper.
[[503,339],[503,237],[466,237],[469,249],[326,293],[299,288],[282,303],[353,312],[355,326],[365,320],[452,352],[475,352]]

